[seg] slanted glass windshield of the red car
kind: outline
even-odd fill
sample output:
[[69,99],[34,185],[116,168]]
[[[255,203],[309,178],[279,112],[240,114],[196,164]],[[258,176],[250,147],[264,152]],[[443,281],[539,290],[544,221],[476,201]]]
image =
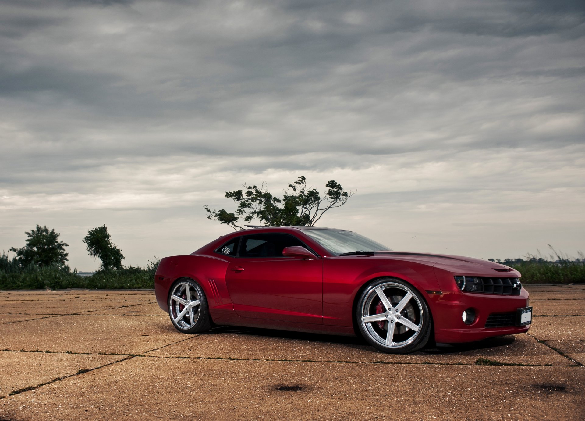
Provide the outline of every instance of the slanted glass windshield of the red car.
[[366,238],[363,235],[351,231],[303,230],[302,232],[321,244],[322,247],[335,254],[362,250],[391,250],[391,248],[388,248],[373,239]]

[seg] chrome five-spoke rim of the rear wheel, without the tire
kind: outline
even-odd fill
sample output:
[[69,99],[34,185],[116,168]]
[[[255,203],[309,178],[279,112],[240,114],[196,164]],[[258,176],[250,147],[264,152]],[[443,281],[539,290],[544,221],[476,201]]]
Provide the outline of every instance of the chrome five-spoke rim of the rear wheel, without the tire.
[[168,312],[176,327],[191,329],[201,314],[201,296],[191,282],[180,282],[174,286],[169,298]]

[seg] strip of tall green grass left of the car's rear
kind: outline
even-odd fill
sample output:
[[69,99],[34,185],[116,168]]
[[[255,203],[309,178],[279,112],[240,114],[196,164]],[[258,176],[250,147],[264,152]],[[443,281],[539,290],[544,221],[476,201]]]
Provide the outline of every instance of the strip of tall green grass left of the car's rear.
[[4,252],[0,255],[0,289],[150,289],[154,287],[154,272],[158,259],[146,268],[129,266],[123,269],[98,271],[92,276],[77,275],[68,266],[57,265],[22,268],[15,258],[9,259]]

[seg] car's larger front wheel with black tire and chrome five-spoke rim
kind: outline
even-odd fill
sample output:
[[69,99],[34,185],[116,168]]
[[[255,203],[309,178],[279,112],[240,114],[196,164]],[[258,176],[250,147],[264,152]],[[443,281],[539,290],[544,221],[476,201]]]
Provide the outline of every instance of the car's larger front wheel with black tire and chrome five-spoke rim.
[[431,314],[415,287],[401,279],[374,280],[361,293],[357,326],[378,350],[405,354],[419,350],[431,336]]

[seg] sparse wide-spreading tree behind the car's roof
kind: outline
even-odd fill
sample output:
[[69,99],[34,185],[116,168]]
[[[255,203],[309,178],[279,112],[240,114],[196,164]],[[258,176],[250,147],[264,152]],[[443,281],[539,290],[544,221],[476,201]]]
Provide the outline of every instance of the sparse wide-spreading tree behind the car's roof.
[[[246,186],[243,186],[246,187]],[[238,225],[240,218],[245,222],[260,220],[261,223],[273,227],[293,225],[315,225],[322,215],[329,209],[343,206],[347,200],[355,194],[355,191],[345,191],[338,182],[331,180],[325,187],[324,196],[316,189],[307,187],[305,177],[288,184],[283,197],[277,197],[266,189],[266,184],[260,187],[247,186],[246,191],[226,191],[225,197],[231,198],[238,207],[234,212],[225,209],[211,210],[204,205],[212,221],[227,224],[236,229],[243,229]]]

